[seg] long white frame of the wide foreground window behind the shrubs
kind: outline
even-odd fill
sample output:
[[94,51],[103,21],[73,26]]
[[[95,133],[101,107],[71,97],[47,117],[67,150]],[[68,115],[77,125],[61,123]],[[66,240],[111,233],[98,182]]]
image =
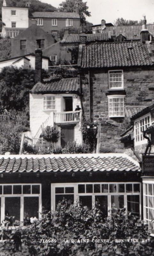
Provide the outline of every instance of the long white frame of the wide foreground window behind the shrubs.
[[[105,193],[78,193],[78,185],[87,185],[93,184],[93,191],[95,184],[108,184],[108,192]],[[125,191],[126,191],[126,184],[132,184],[132,192],[109,192],[109,184],[125,184]],[[140,184],[140,192],[134,192],[133,184]],[[82,182],[82,183],[54,183],[51,184],[51,211],[55,211],[55,188],[56,187],[74,187],[74,201],[79,199],[79,196],[92,196],[92,205],[95,205],[95,196],[108,196],[108,216],[111,216],[111,196],[124,196],[124,208],[127,209],[127,195],[135,196],[139,195],[139,209],[140,209],[140,216],[141,216],[141,182]],[[118,186],[117,186],[118,188]],[[71,194],[71,193],[70,193]],[[63,194],[61,194],[63,195]],[[109,212],[110,210],[110,212]]]

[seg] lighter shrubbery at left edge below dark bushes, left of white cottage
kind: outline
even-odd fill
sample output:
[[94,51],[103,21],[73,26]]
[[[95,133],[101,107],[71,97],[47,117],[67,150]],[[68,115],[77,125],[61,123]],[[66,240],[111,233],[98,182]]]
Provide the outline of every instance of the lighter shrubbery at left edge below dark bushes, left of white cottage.
[[5,110],[0,115],[0,154],[19,154],[21,132],[29,126],[28,114],[28,110]]

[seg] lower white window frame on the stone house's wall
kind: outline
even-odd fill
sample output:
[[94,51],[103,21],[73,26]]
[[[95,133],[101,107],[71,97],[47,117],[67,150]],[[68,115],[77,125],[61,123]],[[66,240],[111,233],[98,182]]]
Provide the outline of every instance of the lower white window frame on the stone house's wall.
[[[108,108],[109,108],[109,117],[124,117],[125,116],[125,101],[124,101],[124,98],[125,98],[125,95],[108,95]],[[112,109],[114,108],[113,106],[110,105],[110,99],[123,99],[123,114],[122,115],[113,115],[113,111]],[[117,102],[115,102],[117,104]],[[121,103],[121,102],[120,102]],[[115,108],[122,108],[122,107],[118,107],[116,106]],[[115,112],[115,111],[114,111]],[[116,112],[119,112],[119,111],[116,111]],[[121,112],[121,111],[120,111]]]

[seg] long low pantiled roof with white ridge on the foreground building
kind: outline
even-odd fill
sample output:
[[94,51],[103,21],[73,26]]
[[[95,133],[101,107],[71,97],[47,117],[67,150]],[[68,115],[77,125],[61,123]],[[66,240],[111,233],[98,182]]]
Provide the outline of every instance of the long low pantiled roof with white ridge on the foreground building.
[[1,156],[0,172],[103,172],[140,171],[126,154]]

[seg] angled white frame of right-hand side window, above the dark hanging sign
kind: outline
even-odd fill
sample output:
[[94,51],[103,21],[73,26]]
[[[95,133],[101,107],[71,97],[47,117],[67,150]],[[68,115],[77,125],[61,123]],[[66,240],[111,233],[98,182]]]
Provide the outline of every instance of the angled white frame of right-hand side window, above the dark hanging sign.
[[[147,125],[147,124],[145,124],[145,119],[148,116],[150,117],[150,121]],[[143,137],[143,132],[141,131],[141,125],[140,124],[142,122],[141,120],[143,120],[143,119],[144,119],[144,126],[142,126],[142,127],[144,127],[143,130],[145,131],[151,125],[151,114],[148,113],[148,114],[146,114],[146,115],[144,115],[144,116],[142,116],[142,117],[140,117],[140,118],[138,118],[134,121],[134,138],[135,138],[134,139],[134,145],[135,146],[148,143],[147,139],[145,139]]]

